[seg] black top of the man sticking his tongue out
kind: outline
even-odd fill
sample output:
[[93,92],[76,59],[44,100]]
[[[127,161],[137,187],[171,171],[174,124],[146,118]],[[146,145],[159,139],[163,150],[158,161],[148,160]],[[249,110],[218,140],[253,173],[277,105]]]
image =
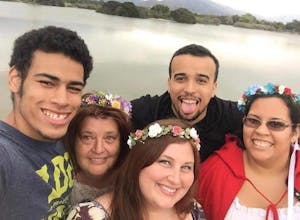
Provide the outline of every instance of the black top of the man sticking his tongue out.
[[[171,108],[168,92],[161,96],[142,96],[132,100],[132,123],[135,129],[142,129],[149,123],[176,117]],[[193,125],[201,140],[201,161],[225,143],[225,134],[240,134],[243,114],[237,103],[214,97],[210,100],[204,119]]]

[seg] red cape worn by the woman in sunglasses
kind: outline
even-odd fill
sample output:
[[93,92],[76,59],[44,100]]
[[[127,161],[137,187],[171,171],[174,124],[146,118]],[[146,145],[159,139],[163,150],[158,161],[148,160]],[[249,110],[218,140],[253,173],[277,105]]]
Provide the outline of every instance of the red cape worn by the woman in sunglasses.
[[[198,200],[209,220],[224,220],[245,181],[243,150],[237,139],[226,137],[225,145],[200,164]],[[300,152],[297,152],[295,188],[300,189]],[[299,198],[298,198],[299,199]]]

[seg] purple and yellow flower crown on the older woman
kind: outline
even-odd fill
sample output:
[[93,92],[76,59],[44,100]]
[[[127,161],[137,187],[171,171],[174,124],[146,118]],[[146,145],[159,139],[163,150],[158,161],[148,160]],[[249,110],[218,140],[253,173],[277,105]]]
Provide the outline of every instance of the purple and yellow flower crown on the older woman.
[[119,95],[112,95],[104,92],[90,92],[82,96],[81,105],[99,105],[102,107],[112,107],[131,115],[132,105]]

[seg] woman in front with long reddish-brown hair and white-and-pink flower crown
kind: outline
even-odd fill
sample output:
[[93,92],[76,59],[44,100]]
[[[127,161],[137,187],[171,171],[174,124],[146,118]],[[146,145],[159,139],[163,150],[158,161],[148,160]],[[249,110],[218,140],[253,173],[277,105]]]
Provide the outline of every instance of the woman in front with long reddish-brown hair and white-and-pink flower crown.
[[131,133],[131,149],[112,193],[74,207],[68,220],[202,220],[194,200],[200,140],[194,128],[165,119]]

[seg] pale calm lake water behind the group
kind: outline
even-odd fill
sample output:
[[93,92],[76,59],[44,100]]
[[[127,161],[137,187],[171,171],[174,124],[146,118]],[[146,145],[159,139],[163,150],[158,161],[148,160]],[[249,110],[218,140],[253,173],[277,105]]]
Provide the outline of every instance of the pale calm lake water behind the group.
[[0,1],[0,118],[11,109],[7,71],[13,41],[45,25],[70,28],[86,41],[94,70],[85,91],[101,89],[128,99],[160,94],[172,54],[190,43],[206,46],[219,59],[222,98],[237,100],[248,85],[269,81],[300,91],[299,35]]

